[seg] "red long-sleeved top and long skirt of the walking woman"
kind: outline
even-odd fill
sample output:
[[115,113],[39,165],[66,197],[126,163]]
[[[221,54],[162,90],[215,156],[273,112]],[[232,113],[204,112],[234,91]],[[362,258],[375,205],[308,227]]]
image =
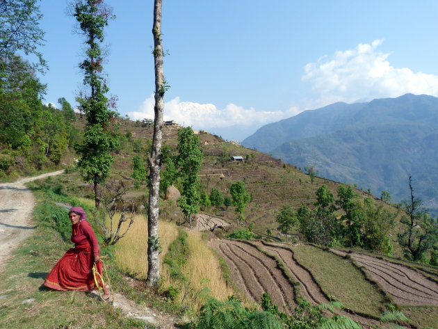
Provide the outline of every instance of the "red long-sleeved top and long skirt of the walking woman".
[[[65,252],[52,268],[44,285],[56,290],[91,291],[96,288],[92,265],[94,255],[99,255],[99,244],[90,223],[83,220],[72,226],[72,242],[74,248]],[[96,265],[102,275],[102,263]]]

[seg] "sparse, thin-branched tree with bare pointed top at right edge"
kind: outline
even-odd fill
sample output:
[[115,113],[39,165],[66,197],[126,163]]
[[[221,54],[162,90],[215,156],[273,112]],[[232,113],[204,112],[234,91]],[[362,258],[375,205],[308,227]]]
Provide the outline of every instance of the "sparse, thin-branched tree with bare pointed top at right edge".
[[428,252],[437,249],[438,223],[423,208],[421,199],[414,196],[412,176],[409,175],[410,199],[400,203],[406,215],[400,220],[407,226],[405,232],[398,234],[398,243],[402,246],[407,259],[425,262]]

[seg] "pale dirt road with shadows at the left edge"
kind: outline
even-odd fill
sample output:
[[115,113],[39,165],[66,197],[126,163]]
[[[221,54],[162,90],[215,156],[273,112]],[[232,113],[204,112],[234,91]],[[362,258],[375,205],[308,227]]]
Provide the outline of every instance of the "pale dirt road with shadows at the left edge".
[[35,198],[25,183],[35,179],[59,175],[64,170],[49,172],[35,177],[18,179],[16,182],[0,184],[0,271],[10,252],[31,235]]

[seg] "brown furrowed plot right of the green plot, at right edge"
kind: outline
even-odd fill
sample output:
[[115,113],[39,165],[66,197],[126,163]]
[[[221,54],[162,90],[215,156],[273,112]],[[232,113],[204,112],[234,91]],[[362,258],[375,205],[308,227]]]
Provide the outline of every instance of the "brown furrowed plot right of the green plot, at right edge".
[[[333,250],[338,255],[346,252]],[[349,254],[357,264],[365,266],[374,280],[390,294],[396,303],[404,305],[438,305],[438,284],[424,275],[384,259],[359,252]]]

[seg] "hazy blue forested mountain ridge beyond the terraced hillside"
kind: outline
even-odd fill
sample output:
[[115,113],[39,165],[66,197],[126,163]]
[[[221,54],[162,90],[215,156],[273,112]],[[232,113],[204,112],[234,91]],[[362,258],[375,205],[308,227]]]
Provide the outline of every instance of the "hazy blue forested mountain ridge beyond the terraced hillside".
[[407,197],[407,175],[418,196],[438,209],[438,98],[407,94],[368,103],[336,103],[266,125],[243,141],[321,177],[373,193]]

